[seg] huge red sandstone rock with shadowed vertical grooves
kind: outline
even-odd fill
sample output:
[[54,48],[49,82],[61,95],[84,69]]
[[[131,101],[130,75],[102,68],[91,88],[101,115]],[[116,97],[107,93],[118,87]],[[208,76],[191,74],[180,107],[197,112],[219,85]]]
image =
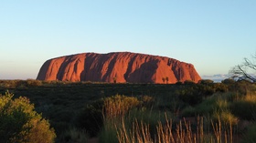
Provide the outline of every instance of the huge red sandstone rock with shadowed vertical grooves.
[[115,79],[118,83],[164,83],[163,77],[168,78],[168,83],[201,79],[192,64],[130,52],[52,58],[41,66],[37,75],[38,80],[113,82]]

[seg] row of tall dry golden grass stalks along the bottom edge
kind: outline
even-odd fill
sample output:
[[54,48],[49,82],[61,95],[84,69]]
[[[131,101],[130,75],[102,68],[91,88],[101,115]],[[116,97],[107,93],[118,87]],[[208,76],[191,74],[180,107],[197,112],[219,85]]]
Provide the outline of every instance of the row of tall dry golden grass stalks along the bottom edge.
[[233,143],[233,128],[223,128],[220,119],[218,122],[211,121],[213,135],[211,132],[204,132],[203,117],[197,117],[197,128],[193,130],[191,123],[180,120],[173,130],[172,119],[167,119],[165,124],[158,122],[156,134],[152,135],[149,125],[135,120],[132,128],[127,128],[125,122],[122,127],[116,125],[117,138],[121,143]]

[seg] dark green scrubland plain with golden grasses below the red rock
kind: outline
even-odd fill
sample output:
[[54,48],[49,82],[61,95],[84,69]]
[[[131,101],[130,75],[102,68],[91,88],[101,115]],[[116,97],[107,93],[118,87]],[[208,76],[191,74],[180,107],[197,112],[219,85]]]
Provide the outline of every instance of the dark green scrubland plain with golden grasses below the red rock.
[[176,84],[1,80],[55,129],[55,142],[256,142],[256,85],[225,79]]

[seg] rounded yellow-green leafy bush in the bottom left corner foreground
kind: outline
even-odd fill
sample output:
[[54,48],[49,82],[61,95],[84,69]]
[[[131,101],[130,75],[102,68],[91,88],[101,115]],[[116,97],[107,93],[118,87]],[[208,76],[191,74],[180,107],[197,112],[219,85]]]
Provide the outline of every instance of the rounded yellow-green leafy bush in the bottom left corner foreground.
[[54,142],[56,134],[48,120],[37,114],[27,97],[13,96],[9,92],[0,95],[0,142]]

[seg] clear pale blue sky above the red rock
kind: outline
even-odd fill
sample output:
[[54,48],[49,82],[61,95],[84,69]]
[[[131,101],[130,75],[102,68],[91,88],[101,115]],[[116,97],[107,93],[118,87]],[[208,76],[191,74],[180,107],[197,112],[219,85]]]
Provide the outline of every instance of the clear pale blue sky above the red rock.
[[0,79],[49,58],[130,51],[228,74],[256,52],[255,0],[0,0]]

